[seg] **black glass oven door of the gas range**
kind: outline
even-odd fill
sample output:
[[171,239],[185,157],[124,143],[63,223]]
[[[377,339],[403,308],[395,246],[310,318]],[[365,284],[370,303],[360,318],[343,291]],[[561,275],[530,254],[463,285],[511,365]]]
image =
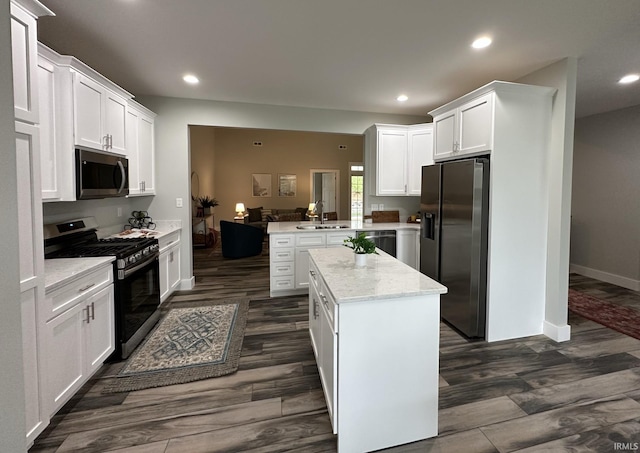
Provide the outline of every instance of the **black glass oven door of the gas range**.
[[120,356],[125,359],[160,317],[159,255],[155,253],[133,270],[120,270],[118,273],[116,338],[120,344]]

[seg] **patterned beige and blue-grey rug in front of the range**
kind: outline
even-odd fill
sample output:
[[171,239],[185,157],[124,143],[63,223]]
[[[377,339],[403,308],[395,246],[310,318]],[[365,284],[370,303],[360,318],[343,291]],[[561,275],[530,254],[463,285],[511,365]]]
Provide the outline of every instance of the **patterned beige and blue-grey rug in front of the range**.
[[248,300],[172,308],[103,393],[181,384],[235,372],[248,308]]

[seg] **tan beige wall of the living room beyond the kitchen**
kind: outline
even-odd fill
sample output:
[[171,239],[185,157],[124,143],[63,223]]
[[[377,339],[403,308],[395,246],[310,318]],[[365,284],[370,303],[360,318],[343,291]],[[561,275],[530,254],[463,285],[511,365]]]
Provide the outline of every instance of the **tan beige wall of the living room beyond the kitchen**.
[[[202,175],[213,171],[213,190],[206,194],[220,202],[215,208],[216,223],[233,219],[238,202],[247,208],[307,206],[312,168],[340,170],[340,213],[347,218],[349,162],[362,162],[362,135],[201,126],[191,126],[190,131],[191,168],[200,175],[201,194],[209,190]],[[347,149],[339,149],[340,145]],[[271,197],[252,196],[252,173],[271,174]],[[297,176],[297,196],[278,196],[278,174]]]

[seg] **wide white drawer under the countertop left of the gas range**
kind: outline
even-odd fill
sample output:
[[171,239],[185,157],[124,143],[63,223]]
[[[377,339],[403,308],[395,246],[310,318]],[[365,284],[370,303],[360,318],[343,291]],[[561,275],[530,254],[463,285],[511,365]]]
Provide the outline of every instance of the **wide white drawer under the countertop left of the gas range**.
[[113,267],[111,263],[78,280],[45,295],[46,319],[74,306],[80,299],[92,295],[113,283]]

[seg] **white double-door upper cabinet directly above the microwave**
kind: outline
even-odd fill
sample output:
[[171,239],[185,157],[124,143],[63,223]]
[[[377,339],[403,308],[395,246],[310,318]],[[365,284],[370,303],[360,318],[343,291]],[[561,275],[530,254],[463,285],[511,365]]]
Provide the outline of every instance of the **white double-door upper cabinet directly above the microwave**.
[[75,144],[126,154],[127,100],[80,73],[73,77]]

